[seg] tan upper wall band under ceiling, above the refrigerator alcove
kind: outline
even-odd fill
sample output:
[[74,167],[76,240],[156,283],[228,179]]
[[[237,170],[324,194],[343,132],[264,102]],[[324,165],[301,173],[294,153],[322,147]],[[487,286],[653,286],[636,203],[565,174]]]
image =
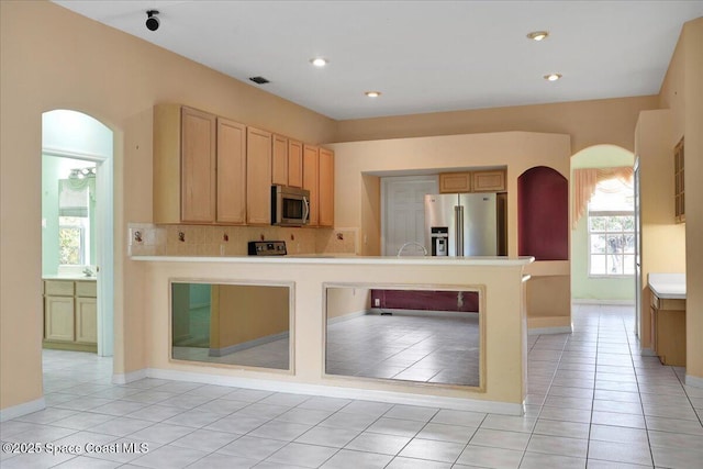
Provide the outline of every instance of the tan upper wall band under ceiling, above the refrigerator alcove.
[[571,154],[604,143],[632,150],[639,111],[657,108],[654,96],[350,120],[336,142],[525,131],[571,135]]

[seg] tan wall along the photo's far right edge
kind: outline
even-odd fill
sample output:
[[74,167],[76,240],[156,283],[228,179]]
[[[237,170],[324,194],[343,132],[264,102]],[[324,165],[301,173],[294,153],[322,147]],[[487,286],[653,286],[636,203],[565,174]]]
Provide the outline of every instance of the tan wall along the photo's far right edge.
[[659,97],[671,109],[669,166],[685,135],[687,383],[703,387],[703,18],[683,25]]

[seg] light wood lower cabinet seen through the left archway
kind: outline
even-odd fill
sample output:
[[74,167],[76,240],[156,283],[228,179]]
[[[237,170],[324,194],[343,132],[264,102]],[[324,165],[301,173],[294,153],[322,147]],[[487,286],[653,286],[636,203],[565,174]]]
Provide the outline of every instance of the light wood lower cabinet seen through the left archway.
[[98,350],[94,280],[44,280],[44,347]]

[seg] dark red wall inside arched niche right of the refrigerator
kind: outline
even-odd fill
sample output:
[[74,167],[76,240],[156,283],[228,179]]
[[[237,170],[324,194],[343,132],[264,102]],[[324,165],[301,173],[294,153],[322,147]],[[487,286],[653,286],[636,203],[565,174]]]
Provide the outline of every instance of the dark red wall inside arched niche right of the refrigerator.
[[546,166],[517,178],[517,252],[536,260],[569,258],[569,182]]

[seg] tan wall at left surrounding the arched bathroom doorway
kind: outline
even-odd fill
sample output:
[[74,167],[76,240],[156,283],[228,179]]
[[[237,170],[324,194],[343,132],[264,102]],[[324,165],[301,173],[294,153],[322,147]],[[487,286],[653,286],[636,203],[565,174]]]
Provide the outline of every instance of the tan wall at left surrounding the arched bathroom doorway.
[[78,110],[114,132],[118,375],[146,366],[149,292],[124,234],[126,222],[152,220],[153,105],[186,103],[310,143],[336,131],[327,118],[51,2],[0,2],[0,409],[42,405],[43,112]]

